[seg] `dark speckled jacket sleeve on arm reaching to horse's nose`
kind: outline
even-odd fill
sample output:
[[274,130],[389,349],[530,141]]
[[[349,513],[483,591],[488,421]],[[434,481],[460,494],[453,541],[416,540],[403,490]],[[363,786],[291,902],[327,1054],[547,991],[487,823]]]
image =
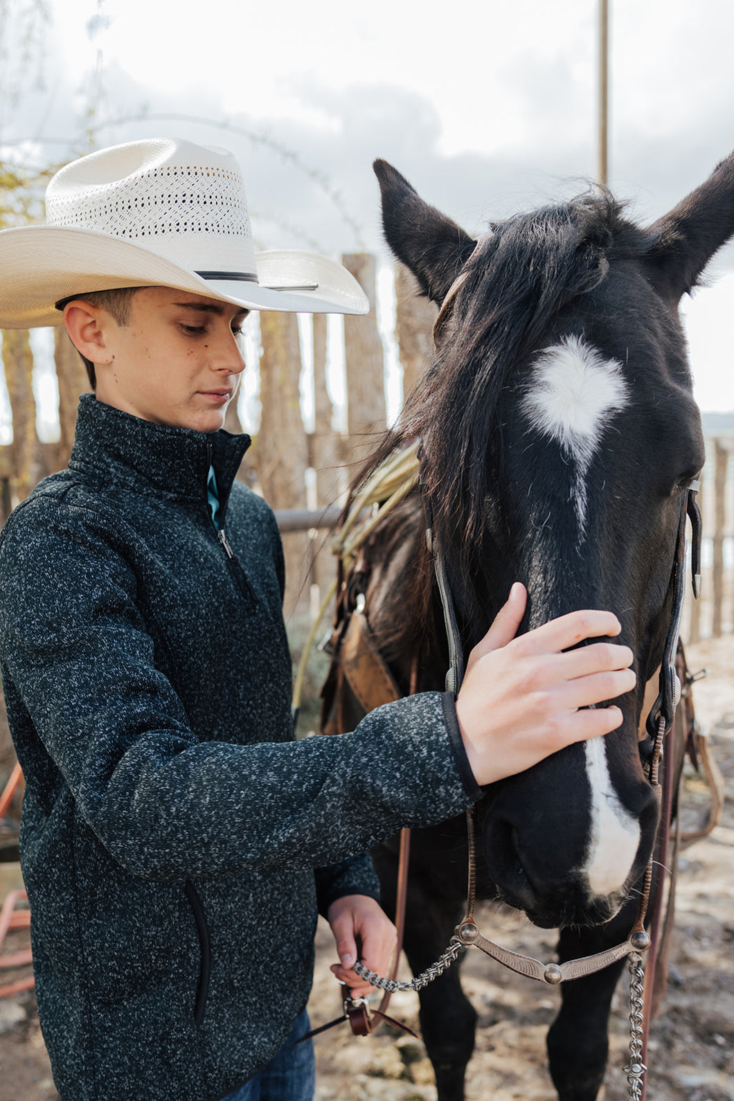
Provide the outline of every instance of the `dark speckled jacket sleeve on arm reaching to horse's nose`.
[[6,687],[78,813],[129,872],[325,868],[481,795],[462,781],[440,693],[377,708],[338,738],[199,742],[156,668],[114,533],[87,509],[59,503],[41,515],[11,519],[0,546]]

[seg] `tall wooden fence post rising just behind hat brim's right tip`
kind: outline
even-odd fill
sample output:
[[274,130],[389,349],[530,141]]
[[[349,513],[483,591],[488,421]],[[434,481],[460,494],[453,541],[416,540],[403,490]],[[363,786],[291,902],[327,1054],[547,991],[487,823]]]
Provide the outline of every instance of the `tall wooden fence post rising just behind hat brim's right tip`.
[[375,315],[375,259],[349,252],[341,262],[370,299],[369,314],[344,316],[349,461],[359,464],[374,445],[374,434],[387,426],[385,360]]

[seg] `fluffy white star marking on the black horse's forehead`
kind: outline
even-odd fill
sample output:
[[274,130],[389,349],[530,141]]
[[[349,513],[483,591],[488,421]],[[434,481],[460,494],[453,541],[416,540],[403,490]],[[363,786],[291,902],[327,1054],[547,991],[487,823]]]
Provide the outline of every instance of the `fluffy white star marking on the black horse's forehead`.
[[535,429],[555,439],[576,464],[571,498],[585,534],[587,472],[611,413],[627,404],[622,364],[579,337],[563,337],[533,363],[522,408]]

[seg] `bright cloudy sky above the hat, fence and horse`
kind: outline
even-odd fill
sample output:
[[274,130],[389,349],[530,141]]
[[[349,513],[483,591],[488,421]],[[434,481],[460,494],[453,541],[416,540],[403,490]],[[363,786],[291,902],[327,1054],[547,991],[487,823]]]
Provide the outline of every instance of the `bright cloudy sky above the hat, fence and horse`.
[[[734,148],[734,6],[610,10],[610,184],[647,220]],[[595,174],[596,0],[52,0],[42,39],[0,59],[4,151],[85,151],[90,111],[98,145],[226,145],[263,247],[384,254],[375,156],[470,231]],[[684,307],[697,395],[734,410],[734,249],[712,275]]]

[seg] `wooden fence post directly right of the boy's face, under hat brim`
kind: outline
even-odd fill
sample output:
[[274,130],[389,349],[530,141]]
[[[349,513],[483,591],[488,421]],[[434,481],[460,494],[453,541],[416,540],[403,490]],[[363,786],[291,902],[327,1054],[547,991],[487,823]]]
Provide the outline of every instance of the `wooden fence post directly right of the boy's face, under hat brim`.
[[[300,341],[295,314],[262,310],[260,400],[255,464],[265,500],[274,509],[303,508],[308,447],[300,416]],[[308,570],[308,535],[284,535],[286,621],[296,611]],[[304,568],[306,567],[306,568]]]

